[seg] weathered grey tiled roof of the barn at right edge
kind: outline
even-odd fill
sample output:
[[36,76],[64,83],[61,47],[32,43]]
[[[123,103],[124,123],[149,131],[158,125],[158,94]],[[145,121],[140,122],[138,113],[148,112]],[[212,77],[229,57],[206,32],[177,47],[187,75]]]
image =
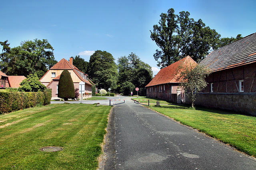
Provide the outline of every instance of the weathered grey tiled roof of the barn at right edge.
[[256,33],[212,51],[200,64],[215,72],[254,62],[256,62]]

